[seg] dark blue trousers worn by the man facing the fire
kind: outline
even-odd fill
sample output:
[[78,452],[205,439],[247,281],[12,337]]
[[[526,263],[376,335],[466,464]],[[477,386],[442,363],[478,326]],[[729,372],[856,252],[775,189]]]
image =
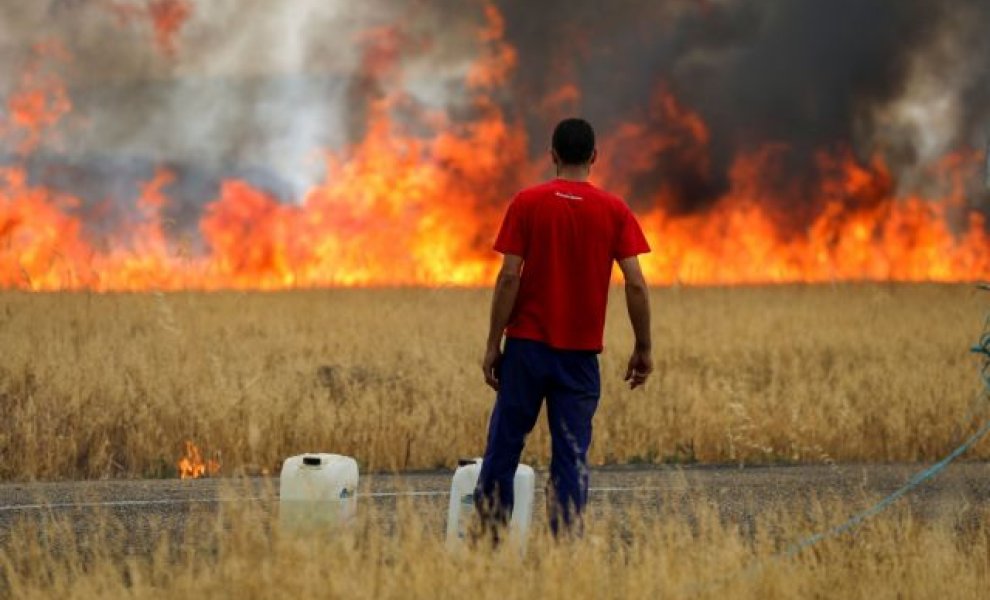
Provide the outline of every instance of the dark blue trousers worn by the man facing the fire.
[[498,378],[488,445],[474,492],[478,513],[488,524],[508,521],[519,457],[545,399],[553,446],[547,514],[555,535],[562,528],[571,530],[580,523],[588,503],[591,420],[601,396],[598,354],[508,338]]

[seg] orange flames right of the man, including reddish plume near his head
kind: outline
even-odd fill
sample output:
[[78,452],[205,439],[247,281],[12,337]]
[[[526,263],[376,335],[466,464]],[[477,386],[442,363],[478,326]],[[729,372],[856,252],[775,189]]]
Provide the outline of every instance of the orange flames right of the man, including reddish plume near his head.
[[[603,144],[606,155],[615,150],[627,173],[649,172],[654,160],[670,159],[682,172],[707,177],[704,121],[663,89],[652,110],[662,127],[620,127]],[[628,147],[641,152],[639,162],[621,154]],[[930,180],[943,190],[937,198],[898,197],[882,157],[862,164],[845,149],[819,153],[821,180],[810,196],[796,189],[781,192],[780,159],[787,152],[783,145],[767,144],[737,156],[728,191],[700,213],[677,214],[676,192],[661,183],[652,199],[655,208],[642,217],[654,248],[643,260],[649,280],[744,284],[990,276],[983,216],[965,209],[964,181],[975,176],[976,152],[956,152],[934,166]],[[611,171],[605,177],[610,179]],[[618,189],[623,183],[610,181]],[[794,205],[817,211],[810,224],[795,224],[792,215],[773,208]],[[961,231],[953,232],[951,221],[962,222]]]

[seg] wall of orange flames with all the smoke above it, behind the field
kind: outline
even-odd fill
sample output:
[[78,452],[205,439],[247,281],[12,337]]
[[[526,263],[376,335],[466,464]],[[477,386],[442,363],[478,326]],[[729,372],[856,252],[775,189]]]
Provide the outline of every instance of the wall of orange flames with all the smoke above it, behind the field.
[[982,4],[564,5],[8,7],[0,286],[486,285],[572,113],[653,283],[990,277]]

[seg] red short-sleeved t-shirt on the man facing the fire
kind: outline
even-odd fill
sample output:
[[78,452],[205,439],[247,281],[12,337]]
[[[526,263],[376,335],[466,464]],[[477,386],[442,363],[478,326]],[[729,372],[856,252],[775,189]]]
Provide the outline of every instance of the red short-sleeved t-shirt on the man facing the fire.
[[523,258],[507,336],[600,352],[612,263],[650,246],[620,198],[554,179],[512,199],[495,250]]

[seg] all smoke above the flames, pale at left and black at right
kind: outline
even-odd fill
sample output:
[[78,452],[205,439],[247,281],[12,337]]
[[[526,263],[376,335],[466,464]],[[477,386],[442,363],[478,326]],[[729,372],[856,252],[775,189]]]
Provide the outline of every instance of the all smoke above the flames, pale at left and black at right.
[[[150,23],[114,16],[113,6],[145,1],[0,0],[0,67],[11,74],[0,97],[33,43],[61,39],[75,109],[60,143],[30,159],[32,173],[90,200],[129,202],[137,181],[171,167],[173,210],[188,227],[223,178],[299,198],[322,175],[321,153],[364,135],[369,106],[396,89],[461,114],[484,20],[480,1],[210,0],[191,3],[168,53]],[[669,115],[651,109],[661,89],[707,123],[705,165],[634,138],[603,156],[640,206],[663,182],[676,191],[668,208],[704,210],[725,192],[733,157],[767,143],[786,146],[781,172],[799,190],[815,185],[821,150],[880,153],[902,187],[923,187],[925,165],[986,143],[981,0],[496,5],[518,51],[498,99],[526,124],[534,157],[575,112],[603,138],[622,123],[666,127]],[[623,171],[630,161],[649,168]]]

